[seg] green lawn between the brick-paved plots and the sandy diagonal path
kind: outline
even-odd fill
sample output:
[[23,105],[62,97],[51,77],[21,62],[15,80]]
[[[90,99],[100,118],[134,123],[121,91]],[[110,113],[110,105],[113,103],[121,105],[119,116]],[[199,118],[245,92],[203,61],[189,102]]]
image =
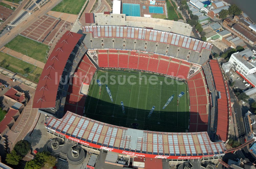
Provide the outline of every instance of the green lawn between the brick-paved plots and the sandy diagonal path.
[[6,44],[5,47],[10,47],[10,49],[25,55],[28,53],[29,57],[43,63],[45,63],[45,55],[47,55],[46,51],[49,51],[48,45],[39,43],[20,35],[16,36],[12,41]]

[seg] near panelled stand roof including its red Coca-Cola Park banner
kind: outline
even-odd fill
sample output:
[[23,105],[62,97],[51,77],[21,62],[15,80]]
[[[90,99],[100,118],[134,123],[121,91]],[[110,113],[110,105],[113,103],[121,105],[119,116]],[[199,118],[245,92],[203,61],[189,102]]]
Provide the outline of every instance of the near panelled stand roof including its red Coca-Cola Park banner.
[[102,123],[69,111],[62,119],[50,116],[45,126],[87,146],[141,157],[182,159],[181,156],[191,156],[200,159],[226,151],[222,142],[211,142],[207,132],[143,131]]

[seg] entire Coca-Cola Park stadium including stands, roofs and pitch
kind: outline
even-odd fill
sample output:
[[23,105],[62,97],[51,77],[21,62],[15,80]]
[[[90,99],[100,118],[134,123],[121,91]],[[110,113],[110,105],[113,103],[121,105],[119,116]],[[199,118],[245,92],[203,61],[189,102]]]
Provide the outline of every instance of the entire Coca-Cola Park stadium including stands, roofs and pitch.
[[224,145],[231,103],[211,48],[141,27],[67,31],[49,55],[33,108],[49,116],[49,138],[116,153],[124,165],[134,157],[217,163],[234,150]]

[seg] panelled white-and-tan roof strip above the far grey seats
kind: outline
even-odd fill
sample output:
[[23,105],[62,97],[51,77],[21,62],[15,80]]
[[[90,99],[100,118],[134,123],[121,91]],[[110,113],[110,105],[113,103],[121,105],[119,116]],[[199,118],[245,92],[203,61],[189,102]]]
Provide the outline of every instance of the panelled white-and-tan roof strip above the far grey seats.
[[210,43],[179,35],[171,32],[157,31],[153,29],[127,27],[127,26],[84,26],[83,33],[92,32],[96,37],[114,37],[114,38],[131,38],[142,39],[161,43],[176,45],[200,52],[202,48],[211,50]]

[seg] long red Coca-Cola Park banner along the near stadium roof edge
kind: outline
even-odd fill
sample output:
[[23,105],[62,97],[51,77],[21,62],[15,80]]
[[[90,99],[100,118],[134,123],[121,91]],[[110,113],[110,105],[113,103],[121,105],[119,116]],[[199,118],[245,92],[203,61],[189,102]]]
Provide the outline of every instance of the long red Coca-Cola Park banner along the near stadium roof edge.
[[70,139],[70,140],[73,140],[75,142],[78,142],[78,143],[81,143],[81,144],[84,144],[84,145],[87,145],[87,146],[91,146],[91,147],[94,147],[94,148],[99,148],[99,149],[103,149],[103,150],[108,150],[108,151],[112,151],[112,152],[128,154],[128,155],[131,155],[131,156],[138,156],[138,157],[161,158],[161,159],[201,159],[202,157],[214,156],[214,155],[207,155],[207,156],[164,156],[164,155],[155,155],[155,154],[145,154],[145,153],[131,152],[131,151],[119,150],[119,149],[115,149],[115,148],[104,147],[104,146],[89,143],[89,142],[86,142],[84,140],[80,140],[78,138],[74,138],[74,137],[71,137],[71,136],[68,136],[68,135],[65,135],[65,137],[67,139]]

